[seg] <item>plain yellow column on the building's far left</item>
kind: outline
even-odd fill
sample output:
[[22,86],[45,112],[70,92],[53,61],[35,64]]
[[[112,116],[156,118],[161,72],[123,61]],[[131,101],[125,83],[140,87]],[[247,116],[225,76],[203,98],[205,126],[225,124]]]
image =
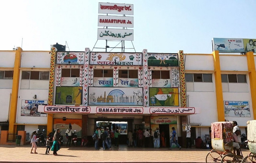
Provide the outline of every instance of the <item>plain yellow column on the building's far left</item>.
[[11,97],[11,107],[10,107],[10,117],[9,117],[9,132],[15,133],[14,123],[16,122],[16,111],[18,103],[18,91],[19,91],[19,81],[20,81],[20,58],[22,49],[18,47],[15,52],[15,60],[13,67],[13,79],[12,79],[12,97]]

